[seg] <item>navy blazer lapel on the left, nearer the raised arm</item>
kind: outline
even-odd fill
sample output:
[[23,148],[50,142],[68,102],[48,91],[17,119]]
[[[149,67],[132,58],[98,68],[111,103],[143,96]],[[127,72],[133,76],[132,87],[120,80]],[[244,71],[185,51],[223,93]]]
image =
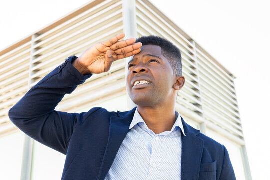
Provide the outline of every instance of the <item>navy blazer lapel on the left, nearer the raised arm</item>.
[[128,112],[118,112],[119,117],[111,116],[108,143],[99,172],[99,179],[104,179],[113,163],[114,158],[122,144],[126,134],[129,132],[129,125],[133,119],[135,109]]

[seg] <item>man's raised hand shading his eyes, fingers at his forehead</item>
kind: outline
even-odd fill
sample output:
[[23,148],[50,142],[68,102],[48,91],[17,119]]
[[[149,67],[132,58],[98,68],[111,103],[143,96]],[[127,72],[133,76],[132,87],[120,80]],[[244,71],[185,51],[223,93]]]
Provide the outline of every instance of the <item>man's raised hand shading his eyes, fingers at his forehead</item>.
[[135,43],[134,38],[119,41],[124,36],[124,33],[118,34],[86,49],[81,56],[72,62],[73,66],[83,75],[99,74],[107,72],[113,61],[139,53],[142,44]]

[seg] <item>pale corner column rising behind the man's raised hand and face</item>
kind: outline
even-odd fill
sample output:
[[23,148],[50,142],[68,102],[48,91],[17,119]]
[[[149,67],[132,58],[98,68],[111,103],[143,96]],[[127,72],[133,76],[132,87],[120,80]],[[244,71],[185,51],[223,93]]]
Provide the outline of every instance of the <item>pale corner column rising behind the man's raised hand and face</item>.
[[[137,23],[136,23],[136,0],[122,0],[123,8],[123,30],[125,33],[125,39],[137,38]],[[127,64],[133,57],[125,58],[125,72],[127,74]],[[132,109],[136,104],[129,98],[127,98],[127,109]]]

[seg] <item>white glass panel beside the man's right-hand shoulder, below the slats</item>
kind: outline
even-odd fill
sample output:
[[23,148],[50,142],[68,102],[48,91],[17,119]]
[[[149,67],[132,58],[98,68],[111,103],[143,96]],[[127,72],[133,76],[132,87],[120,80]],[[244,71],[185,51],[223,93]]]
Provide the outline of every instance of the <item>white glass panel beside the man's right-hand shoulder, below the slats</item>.
[[207,129],[207,135],[227,148],[236,179],[245,179],[241,147],[210,129]]

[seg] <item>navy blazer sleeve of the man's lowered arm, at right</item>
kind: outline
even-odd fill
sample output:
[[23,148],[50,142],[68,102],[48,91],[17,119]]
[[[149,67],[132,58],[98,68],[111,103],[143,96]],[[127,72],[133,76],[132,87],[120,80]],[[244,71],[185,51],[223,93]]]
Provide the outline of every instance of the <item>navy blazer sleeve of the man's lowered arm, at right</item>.
[[224,147],[224,160],[219,180],[236,180],[232,164],[229,159],[229,154],[225,146]]

